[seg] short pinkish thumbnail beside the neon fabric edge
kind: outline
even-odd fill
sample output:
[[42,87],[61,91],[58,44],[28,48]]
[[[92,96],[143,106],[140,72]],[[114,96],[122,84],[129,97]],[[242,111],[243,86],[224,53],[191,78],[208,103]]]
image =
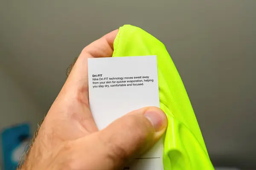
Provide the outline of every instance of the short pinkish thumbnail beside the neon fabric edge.
[[148,110],[144,115],[154,126],[156,132],[162,130],[164,126],[163,123],[166,121],[165,113],[162,110]]

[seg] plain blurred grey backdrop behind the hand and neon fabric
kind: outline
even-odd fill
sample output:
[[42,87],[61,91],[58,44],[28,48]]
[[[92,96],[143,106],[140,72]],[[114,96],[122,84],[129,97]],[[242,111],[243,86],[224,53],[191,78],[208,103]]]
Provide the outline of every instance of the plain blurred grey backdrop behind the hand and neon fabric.
[[35,130],[67,66],[123,24],[166,45],[213,164],[256,169],[256,0],[1,0],[0,128]]

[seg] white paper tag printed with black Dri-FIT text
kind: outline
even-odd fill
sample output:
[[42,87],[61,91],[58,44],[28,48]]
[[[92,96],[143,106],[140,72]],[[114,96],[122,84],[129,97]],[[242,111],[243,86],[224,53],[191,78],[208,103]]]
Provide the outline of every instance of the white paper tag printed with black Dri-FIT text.
[[[99,130],[133,110],[159,106],[157,56],[88,59],[89,100]],[[163,141],[123,170],[163,170]]]

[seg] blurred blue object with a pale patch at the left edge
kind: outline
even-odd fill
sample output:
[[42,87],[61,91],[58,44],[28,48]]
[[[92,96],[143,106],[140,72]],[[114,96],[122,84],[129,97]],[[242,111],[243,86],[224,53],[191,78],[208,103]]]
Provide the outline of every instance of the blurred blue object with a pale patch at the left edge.
[[28,123],[6,127],[3,129],[2,150],[3,170],[15,170],[19,157],[25,151],[30,140],[30,125]]

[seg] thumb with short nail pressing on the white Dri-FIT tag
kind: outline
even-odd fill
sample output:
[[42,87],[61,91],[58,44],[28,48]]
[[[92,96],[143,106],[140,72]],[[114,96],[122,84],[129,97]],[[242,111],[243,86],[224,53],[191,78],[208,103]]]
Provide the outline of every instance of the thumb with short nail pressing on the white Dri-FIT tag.
[[103,144],[101,164],[110,170],[140,156],[151,148],[167,127],[165,113],[156,107],[132,111],[98,133]]

